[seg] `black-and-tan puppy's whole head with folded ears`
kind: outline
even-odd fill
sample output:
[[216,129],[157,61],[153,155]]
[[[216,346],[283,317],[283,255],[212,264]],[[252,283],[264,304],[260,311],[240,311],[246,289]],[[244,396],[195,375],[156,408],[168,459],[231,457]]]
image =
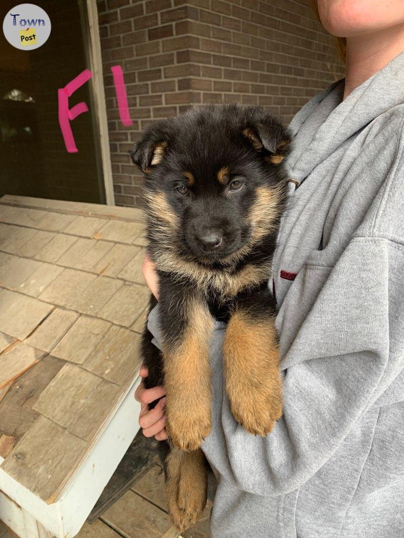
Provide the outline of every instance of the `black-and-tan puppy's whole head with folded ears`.
[[152,246],[201,263],[250,251],[279,220],[288,141],[258,107],[209,105],[152,125],[132,152]]

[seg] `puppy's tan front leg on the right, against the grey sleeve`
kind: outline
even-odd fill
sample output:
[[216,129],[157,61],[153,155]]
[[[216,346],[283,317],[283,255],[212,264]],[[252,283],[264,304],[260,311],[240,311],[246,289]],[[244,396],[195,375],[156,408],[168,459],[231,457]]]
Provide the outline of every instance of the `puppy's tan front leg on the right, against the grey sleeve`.
[[226,329],[225,387],[237,422],[265,436],[282,415],[274,301],[268,289],[237,298]]

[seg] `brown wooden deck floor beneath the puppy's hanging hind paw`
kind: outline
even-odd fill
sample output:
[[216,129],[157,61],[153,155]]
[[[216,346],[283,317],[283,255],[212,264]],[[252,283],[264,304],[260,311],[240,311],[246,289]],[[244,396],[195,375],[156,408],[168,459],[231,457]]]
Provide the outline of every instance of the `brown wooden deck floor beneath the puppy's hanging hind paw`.
[[[211,503],[202,518],[182,534],[207,538]],[[92,525],[84,523],[78,538],[177,538],[167,516],[162,469],[155,465]]]

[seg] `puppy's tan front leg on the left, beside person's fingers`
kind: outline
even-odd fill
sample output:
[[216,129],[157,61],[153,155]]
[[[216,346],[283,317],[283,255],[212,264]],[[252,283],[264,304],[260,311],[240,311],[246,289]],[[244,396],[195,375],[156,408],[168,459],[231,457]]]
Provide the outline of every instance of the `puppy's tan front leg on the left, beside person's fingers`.
[[213,319],[195,289],[183,282],[165,286],[164,277],[160,281],[167,433],[175,447],[195,450],[211,428],[209,340]]

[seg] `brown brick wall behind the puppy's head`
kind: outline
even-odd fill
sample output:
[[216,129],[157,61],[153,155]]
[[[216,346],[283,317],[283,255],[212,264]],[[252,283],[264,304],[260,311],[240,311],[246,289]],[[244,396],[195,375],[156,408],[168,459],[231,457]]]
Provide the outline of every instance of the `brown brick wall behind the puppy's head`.
[[[271,107],[288,123],[334,76],[331,39],[305,0],[98,0],[117,204],[140,204],[127,151],[151,119],[193,104]],[[119,122],[110,67],[121,65],[133,125]]]

